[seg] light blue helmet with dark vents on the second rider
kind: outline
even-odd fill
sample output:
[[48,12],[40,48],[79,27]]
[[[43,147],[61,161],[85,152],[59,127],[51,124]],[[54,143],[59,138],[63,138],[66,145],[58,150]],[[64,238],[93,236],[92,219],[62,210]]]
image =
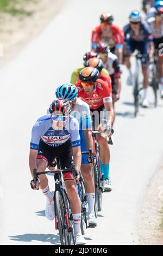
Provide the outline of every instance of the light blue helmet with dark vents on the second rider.
[[78,96],[78,89],[73,84],[63,84],[57,87],[55,96],[58,99],[74,100]]

